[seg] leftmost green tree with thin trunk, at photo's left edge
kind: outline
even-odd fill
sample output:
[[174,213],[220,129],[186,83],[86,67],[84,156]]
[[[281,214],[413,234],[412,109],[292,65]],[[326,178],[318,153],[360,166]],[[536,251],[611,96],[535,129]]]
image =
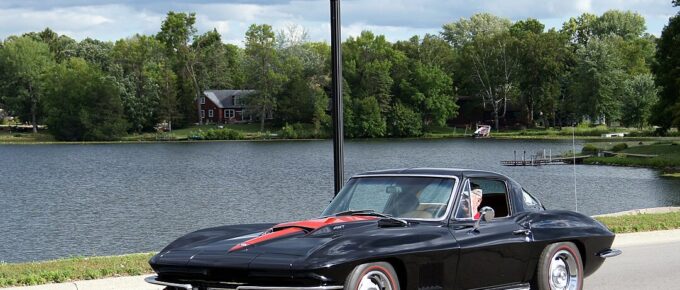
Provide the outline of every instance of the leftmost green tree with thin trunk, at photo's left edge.
[[22,119],[30,116],[33,133],[38,132],[42,79],[53,65],[49,47],[30,37],[9,38],[0,51],[0,66],[5,74],[3,95]]

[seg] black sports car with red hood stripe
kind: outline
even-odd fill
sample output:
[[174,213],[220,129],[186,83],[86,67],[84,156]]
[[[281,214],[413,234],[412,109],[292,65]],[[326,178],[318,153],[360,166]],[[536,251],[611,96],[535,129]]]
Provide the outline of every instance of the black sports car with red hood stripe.
[[178,289],[582,289],[614,234],[546,210],[512,179],[462,169],[352,177],[313,220],[199,230],[149,263]]

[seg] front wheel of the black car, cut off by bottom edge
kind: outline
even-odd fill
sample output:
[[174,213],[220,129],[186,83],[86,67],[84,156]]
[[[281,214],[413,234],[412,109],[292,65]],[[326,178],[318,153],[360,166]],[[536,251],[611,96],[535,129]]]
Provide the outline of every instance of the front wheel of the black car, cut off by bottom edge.
[[389,263],[376,262],[356,266],[347,276],[345,290],[399,290],[399,278]]

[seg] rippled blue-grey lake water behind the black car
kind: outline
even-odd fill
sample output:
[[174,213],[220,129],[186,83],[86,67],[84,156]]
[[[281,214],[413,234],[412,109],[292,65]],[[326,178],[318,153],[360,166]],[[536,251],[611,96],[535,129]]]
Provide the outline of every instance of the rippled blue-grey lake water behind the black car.
[[[506,174],[551,209],[574,210],[571,165],[500,160],[571,141],[378,140],[345,147],[346,176],[403,167]],[[577,150],[580,150],[577,144]],[[158,251],[204,227],[318,216],[333,194],[332,143],[0,145],[0,261]],[[576,166],[579,211],[680,205],[680,181],[653,170]]]

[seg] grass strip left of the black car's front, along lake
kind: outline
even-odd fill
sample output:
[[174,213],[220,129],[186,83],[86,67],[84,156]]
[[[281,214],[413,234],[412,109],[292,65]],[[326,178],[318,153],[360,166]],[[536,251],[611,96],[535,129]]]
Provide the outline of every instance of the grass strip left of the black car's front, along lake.
[[153,254],[69,258],[45,262],[0,263],[0,287],[41,285],[151,273]]

